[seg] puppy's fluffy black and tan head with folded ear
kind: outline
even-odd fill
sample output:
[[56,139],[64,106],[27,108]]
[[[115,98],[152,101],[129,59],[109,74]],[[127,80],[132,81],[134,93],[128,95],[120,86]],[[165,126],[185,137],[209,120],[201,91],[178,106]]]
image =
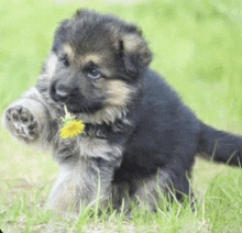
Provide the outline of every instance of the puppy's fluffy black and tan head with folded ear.
[[51,98],[73,113],[125,108],[139,92],[151,57],[135,25],[78,11],[57,29],[45,65]]

